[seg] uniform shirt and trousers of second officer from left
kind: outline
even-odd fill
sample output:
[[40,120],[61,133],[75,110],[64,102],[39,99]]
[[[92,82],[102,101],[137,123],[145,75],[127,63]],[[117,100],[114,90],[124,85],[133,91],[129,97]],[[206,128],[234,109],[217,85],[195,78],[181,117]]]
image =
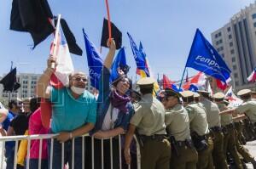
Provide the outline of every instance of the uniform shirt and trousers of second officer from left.
[[177,152],[172,153],[171,168],[196,169],[198,155],[190,137],[189,115],[183,105],[176,104],[166,110],[166,131],[176,140]]

